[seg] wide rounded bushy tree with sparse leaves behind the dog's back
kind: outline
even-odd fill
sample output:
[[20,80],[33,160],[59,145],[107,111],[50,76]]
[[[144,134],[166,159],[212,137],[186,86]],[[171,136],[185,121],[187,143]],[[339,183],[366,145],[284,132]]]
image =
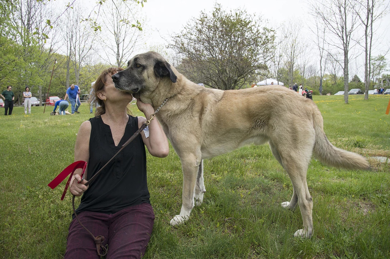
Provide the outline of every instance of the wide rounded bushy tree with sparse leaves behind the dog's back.
[[182,55],[179,68],[190,80],[212,88],[239,89],[267,70],[274,31],[260,26],[241,9],[226,12],[220,4],[211,14],[200,13],[170,47]]

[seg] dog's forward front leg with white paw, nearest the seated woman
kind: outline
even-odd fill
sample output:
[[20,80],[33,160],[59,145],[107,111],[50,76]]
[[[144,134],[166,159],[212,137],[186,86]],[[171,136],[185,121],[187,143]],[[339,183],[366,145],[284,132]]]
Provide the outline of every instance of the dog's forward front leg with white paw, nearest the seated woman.
[[197,182],[197,172],[201,159],[197,160],[195,154],[188,154],[180,157],[183,169],[183,193],[180,214],[170,221],[172,226],[183,224],[188,220],[194,206],[195,185]]

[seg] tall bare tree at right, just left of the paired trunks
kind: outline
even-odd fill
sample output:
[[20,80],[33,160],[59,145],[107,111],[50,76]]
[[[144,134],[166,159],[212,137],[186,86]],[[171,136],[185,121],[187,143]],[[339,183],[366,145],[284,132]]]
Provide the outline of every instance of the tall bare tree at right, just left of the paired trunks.
[[[323,21],[327,32],[332,35],[325,39],[326,43],[330,48],[339,49],[343,54],[344,62],[339,61],[339,64],[344,72],[344,102],[346,104],[348,103],[349,50],[352,48],[351,41],[357,23],[354,4],[354,1],[349,0],[324,0],[312,4],[314,15]],[[333,55],[331,52],[328,53]]]

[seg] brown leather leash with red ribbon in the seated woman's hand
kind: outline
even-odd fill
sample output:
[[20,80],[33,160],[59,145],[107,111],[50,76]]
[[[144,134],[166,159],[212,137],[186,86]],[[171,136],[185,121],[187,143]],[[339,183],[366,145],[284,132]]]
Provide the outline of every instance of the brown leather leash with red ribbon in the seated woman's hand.
[[[154,117],[156,116],[156,113],[158,113],[158,111],[160,111],[161,107],[163,107],[163,105],[167,102],[167,100],[169,99],[166,98],[163,103],[160,105],[160,107],[158,107],[156,109],[156,111],[150,115],[150,118],[149,120],[147,120],[146,122],[144,122],[141,127],[133,134],[133,136],[131,136],[129,138],[128,141],[126,141],[121,149],[110,159],[108,160],[108,162],[101,168],[99,169],[99,171],[96,172],[96,174],[94,174],[94,176],[92,176],[89,181],[87,181],[87,183],[85,183],[86,186],[88,186],[93,180],[96,179],[96,176],[119,154],[119,152],[121,152],[131,141],[133,141],[141,132],[142,130],[144,130],[147,125],[149,125],[149,123],[151,123],[151,121],[154,119]],[[85,161],[76,161],[74,162],[73,164],[71,164],[70,166],[66,167],[66,169],[64,169],[60,174],[58,174],[58,176],[56,178],[54,178],[53,181],[51,181],[48,186],[51,188],[51,189],[54,189],[63,179],[66,178],[66,176],[70,173],[70,169],[71,167],[73,166],[73,171],[71,172],[71,175],[69,176],[69,179],[66,183],[66,186],[65,186],[65,190],[64,190],[64,193],[62,194],[62,197],[61,197],[61,200],[64,199],[64,196],[66,194],[66,190],[69,186],[69,183],[70,183],[70,180],[73,176],[73,173],[76,169],[78,168],[83,168],[83,172],[81,174],[82,176],[82,179],[84,179],[83,175],[84,175],[84,172],[85,172],[85,169],[86,169],[86,166],[87,166],[87,162]],[[66,176],[64,176],[64,174],[66,174]],[[62,179],[62,180],[61,180]],[[79,182],[80,183],[80,182]],[[97,254],[100,255],[100,256],[105,256],[108,252],[108,245],[106,245],[106,247],[104,247],[102,244],[105,240],[104,236],[94,236],[94,234],[92,234],[81,222],[80,222],[80,219],[78,218],[78,215],[76,213],[76,209],[74,208],[74,196],[72,197],[72,208],[73,208],[73,213],[74,213],[74,216],[76,217],[78,223],[92,236],[92,239],[94,240],[95,244],[96,244],[96,251],[97,251]],[[102,253],[100,253],[100,249],[103,250]]]

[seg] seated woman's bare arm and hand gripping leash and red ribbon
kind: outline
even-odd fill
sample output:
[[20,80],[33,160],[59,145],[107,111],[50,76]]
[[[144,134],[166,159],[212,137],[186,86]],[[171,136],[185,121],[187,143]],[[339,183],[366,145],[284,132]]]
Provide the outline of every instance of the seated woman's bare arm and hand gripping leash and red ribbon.
[[[91,123],[87,120],[83,122],[77,133],[76,144],[74,145],[74,161],[85,161],[89,160],[89,138],[91,134]],[[87,167],[88,170],[88,167]],[[87,178],[87,170],[85,170],[84,178]],[[87,180],[81,178],[82,169],[77,169],[71,179],[69,190],[71,194],[80,196],[88,189],[85,186]],[[80,182],[80,183],[78,183]]]

